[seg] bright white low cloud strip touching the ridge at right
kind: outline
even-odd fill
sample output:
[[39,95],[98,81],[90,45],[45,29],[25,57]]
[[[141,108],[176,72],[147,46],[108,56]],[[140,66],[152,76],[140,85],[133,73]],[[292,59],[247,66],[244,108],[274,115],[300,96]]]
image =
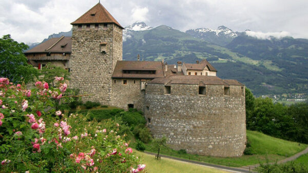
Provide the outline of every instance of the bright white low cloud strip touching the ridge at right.
[[275,38],[283,38],[286,36],[291,36],[290,33],[286,32],[286,31],[281,31],[281,32],[254,32],[254,31],[245,31],[246,35],[248,36],[252,36],[258,39],[271,39],[272,37]]

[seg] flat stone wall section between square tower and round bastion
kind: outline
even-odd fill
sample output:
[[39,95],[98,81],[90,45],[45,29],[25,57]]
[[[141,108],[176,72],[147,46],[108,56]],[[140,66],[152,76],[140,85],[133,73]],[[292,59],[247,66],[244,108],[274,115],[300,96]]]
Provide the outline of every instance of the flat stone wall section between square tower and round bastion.
[[[127,84],[123,84],[123,80],[127,80]],[[128,104],[133,104],[134,108],[144,111],[144,95],[140,79],[112,79],[113,106],[128,110]]]

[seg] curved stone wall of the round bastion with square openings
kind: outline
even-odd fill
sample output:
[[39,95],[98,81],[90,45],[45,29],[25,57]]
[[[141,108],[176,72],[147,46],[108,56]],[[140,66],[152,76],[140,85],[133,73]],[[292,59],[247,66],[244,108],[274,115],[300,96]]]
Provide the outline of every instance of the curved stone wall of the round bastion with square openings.
[[164,94],[163,84],[147,84],[145,118],[152,134],[165,135],[172,148],[191,154],[241,156],[246,142],[241,86],[230,86],[230,96],[224,96],[223,85],[206,85],[206,95],[198,95],[198,85],[182,86],[172,84],[171,94]]

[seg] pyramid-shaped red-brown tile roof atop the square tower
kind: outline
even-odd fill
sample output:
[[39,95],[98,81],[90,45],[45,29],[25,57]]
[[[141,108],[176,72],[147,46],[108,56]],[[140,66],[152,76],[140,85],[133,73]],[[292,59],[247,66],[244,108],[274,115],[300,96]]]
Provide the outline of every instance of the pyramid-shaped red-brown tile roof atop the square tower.
[[124,29],[117,20],[115,20],[112,15],[104,8],[101,3],[98,3],[92,7],[85,14],[80,16],[78,19],[73,21],[71,25],[76,24],[103,24],[103,23],[113,23],[118,25],[120,28]]

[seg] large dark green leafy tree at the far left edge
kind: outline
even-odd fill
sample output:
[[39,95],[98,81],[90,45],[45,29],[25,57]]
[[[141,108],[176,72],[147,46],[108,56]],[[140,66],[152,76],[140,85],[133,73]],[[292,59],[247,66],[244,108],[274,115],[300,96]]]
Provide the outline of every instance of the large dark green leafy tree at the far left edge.
[[28,46],[18,43],[10,35],[0,38],[0,77],[8,78],[13,83],[34,81],[38,72],[27,63],[23,51]]

